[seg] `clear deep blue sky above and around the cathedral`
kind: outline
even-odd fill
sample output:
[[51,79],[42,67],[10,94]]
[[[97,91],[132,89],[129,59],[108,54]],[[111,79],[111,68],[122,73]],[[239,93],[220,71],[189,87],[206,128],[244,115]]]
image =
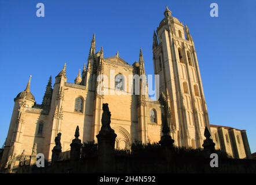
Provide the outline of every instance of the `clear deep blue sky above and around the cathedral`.
[[[45,17],[36,17],[36,3]],[[38,103],[50,75],[67,62],[69,82],[87,60],[96,33],[97,50],[130,64],[142,48],[145,68],[153,73],[152,35],[166,5],[190,28],[196,45],[211,124],[246,129],[256,151],[256,2],[208,0],[129,1],[0,0],[0,143],[4,142],[13,98],[32,75],[31,91]],[[210,3],[219,17],[210,17]]]

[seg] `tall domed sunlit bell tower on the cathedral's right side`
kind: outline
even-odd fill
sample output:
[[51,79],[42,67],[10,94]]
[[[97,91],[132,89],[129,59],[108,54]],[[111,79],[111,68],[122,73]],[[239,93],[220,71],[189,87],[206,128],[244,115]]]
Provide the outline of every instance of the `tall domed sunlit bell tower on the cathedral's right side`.
[[195,45],[188,27],[168,7],[153,32],[153,65],[160,77],[160,94],[170,99],[175,145],[202,147],[204,128],[210,130],[210,125]]

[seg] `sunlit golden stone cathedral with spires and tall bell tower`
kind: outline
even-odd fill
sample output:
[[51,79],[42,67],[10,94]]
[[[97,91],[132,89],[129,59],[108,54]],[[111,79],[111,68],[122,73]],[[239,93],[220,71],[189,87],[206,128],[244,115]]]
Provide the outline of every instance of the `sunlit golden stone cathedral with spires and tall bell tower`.
[[[50,160],[54,138],[59,132],[62,150],[69,151],[76,125],[80,128],[82,142],[97,142],[103,103],[108,103],[112,114],[111,127],[117,134],[116,149],[130,149],[136,140],[159,142],[162,122],[166,120],[175,146],[202,147],[207,127],[216,149],[226,151],[233,158],[249,158],[245,130],[210,124],[192,36],[189,28],[173,17],[168,8],[153,32],[152,52],[154,74],[159,75],[159,99],[155,101],[149,98],[147,90],[139,94],[98,93],[98,87],[118,92],[133,89],[134,84],[127,79],[131,75],[145,75],[144,65],[149,63],[144,61],[142,50],[138,52],[138,61],[132,65],[118,53],[105,57],[103,47],[96,50],[95,35],[87,64],[74,83],[68,82],[65,64],[54,82],[50,77],[40,105],[30,90],[30,76],[25,90],[14,98],[1,165],[5,165],[9,157],[23,152],[30,155],[35,144],[36,153],[43,153],[46,160]],[[98,80],[100,75],[108,78]],[[109,82],[113,75],[115,82]],[[113,83],[114,87],[104,86],[106,83]],[[145,87],[148,88],[147,83]]]

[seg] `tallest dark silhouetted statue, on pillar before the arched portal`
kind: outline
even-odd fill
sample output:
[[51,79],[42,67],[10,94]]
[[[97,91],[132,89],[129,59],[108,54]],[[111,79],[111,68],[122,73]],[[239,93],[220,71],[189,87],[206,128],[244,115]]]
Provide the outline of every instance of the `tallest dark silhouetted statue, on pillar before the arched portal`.
[[108,103],[103,103],[103,114],[101,118],[102,127],[100,129],[101,134],[108,133],[108,132],[114,133],[114,129],[111,129],[110,123],[111,123],[111,112],[109,112]]

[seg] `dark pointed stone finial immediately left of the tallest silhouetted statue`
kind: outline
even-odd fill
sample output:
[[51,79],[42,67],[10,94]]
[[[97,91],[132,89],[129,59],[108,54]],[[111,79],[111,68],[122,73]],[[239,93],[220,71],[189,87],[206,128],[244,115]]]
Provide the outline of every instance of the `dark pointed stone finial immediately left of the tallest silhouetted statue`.
[[70,159],[71,160],[79,160],[79,158],[80,158],[82,142],[81,142],[81,139],[78,139],[79,136],[80,136],[79,127],[77,126],[75,129],[75,139],[73,139],[72,143],[70,144],[70,147],[71,147]]

